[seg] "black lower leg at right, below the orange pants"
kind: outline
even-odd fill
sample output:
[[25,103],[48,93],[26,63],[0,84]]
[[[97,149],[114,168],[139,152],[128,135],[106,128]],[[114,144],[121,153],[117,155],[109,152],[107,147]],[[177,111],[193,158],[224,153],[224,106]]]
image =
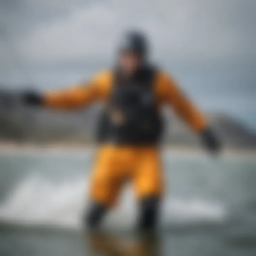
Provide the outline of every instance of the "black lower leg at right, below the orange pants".
[[159,197],[147,197],[140,201],[138,228],[141,231],[154,230],[158,224]]

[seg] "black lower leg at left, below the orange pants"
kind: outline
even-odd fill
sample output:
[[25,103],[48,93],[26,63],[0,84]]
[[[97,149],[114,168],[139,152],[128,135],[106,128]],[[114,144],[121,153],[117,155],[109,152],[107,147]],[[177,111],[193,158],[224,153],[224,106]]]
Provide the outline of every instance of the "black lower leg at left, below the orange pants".
[[107,209],[108,207],[103,204],[91,202],[89,210],[85,216],[87,226],[89,226],[89,228],[96,228],[105,216]]

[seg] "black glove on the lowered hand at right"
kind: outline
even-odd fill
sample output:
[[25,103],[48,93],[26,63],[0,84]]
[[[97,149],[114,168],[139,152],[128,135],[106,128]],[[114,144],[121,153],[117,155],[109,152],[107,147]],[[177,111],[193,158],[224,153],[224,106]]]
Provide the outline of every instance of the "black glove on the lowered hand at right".
[[201,132],[203,144],[211,153],[219,153],[221,144],[212,129],[206,128]]

